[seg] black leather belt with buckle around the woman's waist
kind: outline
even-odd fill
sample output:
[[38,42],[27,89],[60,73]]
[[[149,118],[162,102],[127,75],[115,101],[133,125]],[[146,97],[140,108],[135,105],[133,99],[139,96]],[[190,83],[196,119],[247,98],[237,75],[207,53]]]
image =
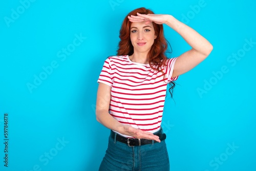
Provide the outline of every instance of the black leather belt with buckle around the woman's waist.
[[[157,132],[155,135],[159,137],[161,141],[166,139],[166,135],[162,133],[162,131]],[[110,133],[111,138],[115,138],[115,132],[111,130]],[[139,145],[145,145],[145,144],[152,144],[153,140],[148,139],[138,139],[138,138],[126,138],[119,134],[116,135],[116,140],[119,142],[123,142],[127,144],[128,146],[139,146]],[[157,142],[154,140],[154,143]]]

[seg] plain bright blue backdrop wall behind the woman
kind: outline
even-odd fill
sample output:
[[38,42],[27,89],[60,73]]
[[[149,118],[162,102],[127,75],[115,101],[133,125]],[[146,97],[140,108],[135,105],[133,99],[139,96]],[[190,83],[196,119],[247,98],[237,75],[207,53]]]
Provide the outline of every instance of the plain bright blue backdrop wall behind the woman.
[[[96,81],[105,58],[116,54],[123,18],[139,7],[174,15],[214,46],[176,81],[175,101],[166,99],[162,126],[171,170],[256,170],[255,1],[0,4],[1,170],[98,169],[110,131],[96,121]],[[189,50],[164,29],[172,57]]]

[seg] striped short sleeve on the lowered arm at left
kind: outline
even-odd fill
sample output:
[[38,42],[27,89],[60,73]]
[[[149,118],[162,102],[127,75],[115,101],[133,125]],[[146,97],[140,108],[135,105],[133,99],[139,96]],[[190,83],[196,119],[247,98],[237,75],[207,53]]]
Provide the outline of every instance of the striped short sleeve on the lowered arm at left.
[[107,84],[108,86],[112,87],[113,81],[111,78],[111,61],[107,58],[104,61],[103,68],[100,72],[99,78],[97,82],[102,82]]

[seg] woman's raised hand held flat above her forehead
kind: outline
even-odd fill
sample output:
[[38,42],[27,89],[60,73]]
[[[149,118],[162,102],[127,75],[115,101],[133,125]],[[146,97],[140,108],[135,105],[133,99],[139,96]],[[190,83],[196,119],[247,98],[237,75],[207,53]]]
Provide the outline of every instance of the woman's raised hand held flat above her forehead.
[[165,14],[140,14],[137,13],[137,16],[131,15],[128,16],[130,22],[146,22],[145,24],[148,24],[150,22],[154,22],[156,24],[164,24],[167,22],[169,15]]

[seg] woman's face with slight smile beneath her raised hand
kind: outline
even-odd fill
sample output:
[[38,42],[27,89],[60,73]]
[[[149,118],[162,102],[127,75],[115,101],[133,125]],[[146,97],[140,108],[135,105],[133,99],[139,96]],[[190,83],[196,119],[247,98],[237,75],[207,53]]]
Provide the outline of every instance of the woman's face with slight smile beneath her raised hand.
[[152,22],[149,24],[133,22],[131,24],[130,38],[134,52],[148,53],[154,44],[154,40],[157,38]]

